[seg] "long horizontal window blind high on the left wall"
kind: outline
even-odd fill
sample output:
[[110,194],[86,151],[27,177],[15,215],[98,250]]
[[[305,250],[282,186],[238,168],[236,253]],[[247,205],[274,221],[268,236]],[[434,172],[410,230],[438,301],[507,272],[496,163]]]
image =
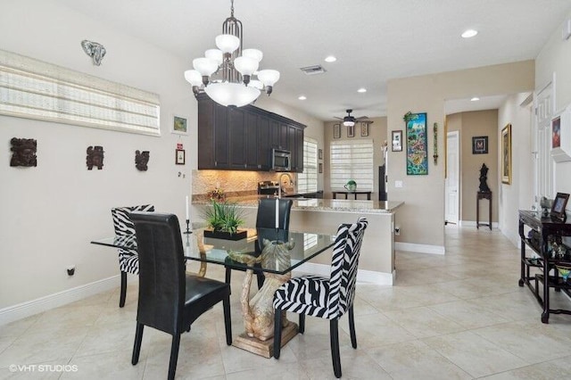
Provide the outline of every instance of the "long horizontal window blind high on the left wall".
[[0,50],[0,114],[160,136],[159,96]]

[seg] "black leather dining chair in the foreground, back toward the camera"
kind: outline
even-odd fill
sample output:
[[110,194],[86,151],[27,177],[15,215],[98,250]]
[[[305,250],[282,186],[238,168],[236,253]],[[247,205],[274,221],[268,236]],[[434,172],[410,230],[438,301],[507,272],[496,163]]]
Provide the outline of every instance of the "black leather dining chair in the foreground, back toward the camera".
[[131,362],[141,351],[143,328],[172,335],[169,379],[177,370],[180,335],[196,318],[220,301],[224,308],[226,343],[232,344],[230,285],[186,273],[178,218],[173,214],[132,212],[139,254],[137,330]]

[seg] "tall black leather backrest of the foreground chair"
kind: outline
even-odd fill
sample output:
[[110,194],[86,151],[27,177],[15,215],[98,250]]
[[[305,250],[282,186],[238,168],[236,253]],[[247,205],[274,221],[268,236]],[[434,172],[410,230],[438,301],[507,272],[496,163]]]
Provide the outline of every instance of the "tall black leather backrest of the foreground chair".
[[178,218],[132,212],[139,254],[137,322],[179,334],[186,296],[185,257]]

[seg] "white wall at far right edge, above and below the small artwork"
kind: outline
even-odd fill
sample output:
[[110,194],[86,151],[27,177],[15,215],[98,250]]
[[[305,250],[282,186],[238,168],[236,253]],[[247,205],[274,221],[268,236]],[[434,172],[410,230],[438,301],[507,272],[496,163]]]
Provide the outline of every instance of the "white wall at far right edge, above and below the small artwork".
[[[567,19],[571,18],[571,13]],[[555,73],[555,108],[571,103],[571,39],[561,38],[563,24],[556,26],[547,44],[535,60],[535,90],[547,85]],[[571,193],[571,161],[555,163],[555,192]],[[555,195],[555,194],[553,194]],[[567,203],[567,213],[571,203]]]

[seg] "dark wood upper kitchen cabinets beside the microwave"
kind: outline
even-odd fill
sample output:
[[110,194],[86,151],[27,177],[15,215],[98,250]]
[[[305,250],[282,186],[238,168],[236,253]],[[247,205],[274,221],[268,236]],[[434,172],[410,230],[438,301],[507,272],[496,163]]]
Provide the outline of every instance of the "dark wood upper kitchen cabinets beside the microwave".
[[198,169],[271,170],[273,148],[303,170],[304,125],[252,105],[224,107],[198,96]]

